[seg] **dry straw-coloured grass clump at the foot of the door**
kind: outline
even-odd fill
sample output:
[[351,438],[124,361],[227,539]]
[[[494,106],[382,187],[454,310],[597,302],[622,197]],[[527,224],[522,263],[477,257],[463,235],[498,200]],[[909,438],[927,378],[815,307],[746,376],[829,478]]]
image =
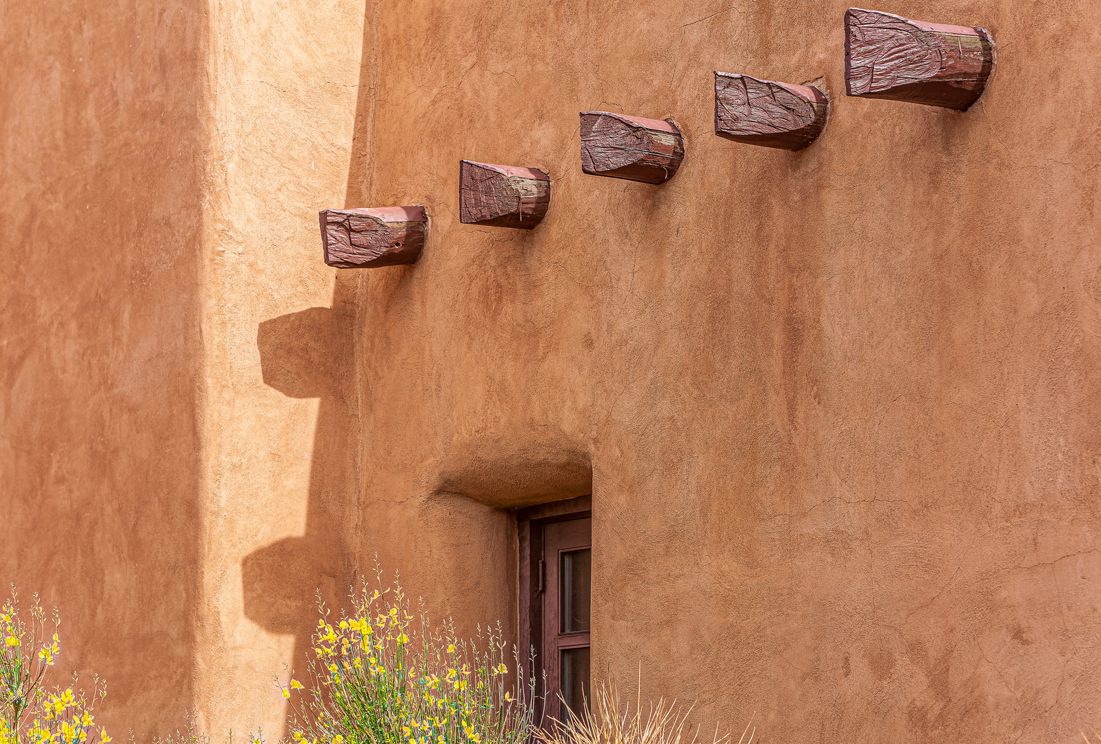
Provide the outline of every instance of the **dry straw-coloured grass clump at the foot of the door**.
[[[593,691],[591,709],[586,700],[579,715],[569,710],[565,722],[555,720],[549,729],[536,729],[535,740],[539,744],[702,744],[698,726],[695,731],[685,731],[691,705],[684,708],[676,700],[666,703],[662,698],[652,702],[650,711],[643,715],[641,702],[641,699],[635,700],[633,712],[630,702],[621,708],[615,685],[601,685]],[[746,734],[749,741],[745,741]],[[755,734],[756,729],[750,732],[746,724],[738,744],[752,744]],[[716,726],[710,744],[732,742],[729,733],[720,735]]]

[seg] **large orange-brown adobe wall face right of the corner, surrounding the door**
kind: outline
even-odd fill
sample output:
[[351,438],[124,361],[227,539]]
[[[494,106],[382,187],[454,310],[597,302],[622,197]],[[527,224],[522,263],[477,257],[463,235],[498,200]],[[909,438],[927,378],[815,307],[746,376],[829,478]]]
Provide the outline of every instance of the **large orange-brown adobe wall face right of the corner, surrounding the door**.
[[[847,99],[844,10],[381,6],[363,204],[433,222],[367,280],[360,538],[510,612],[501,510],[588,459],[600,677],[775,742],[1071,741],[1101,719],[1101,10],[884,8],[992,31],[963,114]],[[821,140],[716,138],[715,69],[817,80]],[[677,175],[584,175],[593,109],[676,119]],[[464,157],[547,171],[546,219],[460,225]]]

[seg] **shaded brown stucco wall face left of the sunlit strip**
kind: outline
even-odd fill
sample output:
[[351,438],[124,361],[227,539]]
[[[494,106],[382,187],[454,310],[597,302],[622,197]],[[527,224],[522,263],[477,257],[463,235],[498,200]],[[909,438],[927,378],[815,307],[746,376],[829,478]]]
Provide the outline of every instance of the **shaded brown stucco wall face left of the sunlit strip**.
[[204,6],[0,10],[0,577],[139,740],[190,705]]

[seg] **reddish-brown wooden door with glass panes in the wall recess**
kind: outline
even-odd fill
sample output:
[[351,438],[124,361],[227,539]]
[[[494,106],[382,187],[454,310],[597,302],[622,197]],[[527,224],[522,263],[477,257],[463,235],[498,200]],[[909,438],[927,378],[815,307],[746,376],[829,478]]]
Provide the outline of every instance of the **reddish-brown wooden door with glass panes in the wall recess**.
[[578,714],[589,696],[592,517],[544,525],[542,567],[546,710],[566,720],[558,694]]

